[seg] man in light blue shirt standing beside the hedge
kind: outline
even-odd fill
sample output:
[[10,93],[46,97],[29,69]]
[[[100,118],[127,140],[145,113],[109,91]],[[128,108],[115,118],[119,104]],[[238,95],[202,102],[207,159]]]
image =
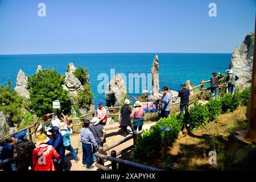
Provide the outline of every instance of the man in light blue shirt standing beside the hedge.
[[159,98],[161,105],[160,118],[166,118],[170,114],[172,97],[167,86],[164,86],[162,89],[163,96]]

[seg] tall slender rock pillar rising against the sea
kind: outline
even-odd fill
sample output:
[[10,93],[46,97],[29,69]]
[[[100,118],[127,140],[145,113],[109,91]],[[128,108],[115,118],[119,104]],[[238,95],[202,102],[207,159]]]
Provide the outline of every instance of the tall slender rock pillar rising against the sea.
[[153,63],[151,66],[151,73],[152,73],[152,89],[151,89],[151,95],[150,95],[151,100],[155,100],[157,98],[158,93],[160,92],[158,69],[159,69],[158,55],[155,55],[155,59],[153,60]]

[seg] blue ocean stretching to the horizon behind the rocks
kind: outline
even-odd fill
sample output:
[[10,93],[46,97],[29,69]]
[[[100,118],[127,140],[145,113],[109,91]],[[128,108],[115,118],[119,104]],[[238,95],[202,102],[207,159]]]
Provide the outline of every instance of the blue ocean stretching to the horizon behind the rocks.
[[[88,68],[90,85],[94,93],[94,101],[105,101],[105,96],[98,93],[97,87],[102,80],[97,77],[106,73],[110,77],[110,69],[115,73],[151,73],[151,65],[155,54],[159,58],[160,88],[168,86],[179,90],[180,84],[191,80],[192,85],[200,84],[201,80],[209,80],[211,73],[222,72],[229,68],[231,53],[79,53],[51,55],[0,55],[0,84],[7,85],[10,78],[15,86],[16,76],[22,69],[27,76],[36,72],[38,65],[44,68],[54,68],[63,75],[69,63],[75,67]],[[109,78],[110,79],[110,78]],[[150,91],[150,90],[149,90]],[[140,93],[129,93],[139,96]]]

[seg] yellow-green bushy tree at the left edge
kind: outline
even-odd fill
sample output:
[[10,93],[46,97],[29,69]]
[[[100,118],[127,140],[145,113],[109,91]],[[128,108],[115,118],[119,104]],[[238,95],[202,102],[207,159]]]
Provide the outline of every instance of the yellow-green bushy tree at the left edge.
[[20,97],[14,90],[11,90],[11,82],[8,86],[0,86],[0,111],[8,117],[11,122],[21,121],[23,98]]

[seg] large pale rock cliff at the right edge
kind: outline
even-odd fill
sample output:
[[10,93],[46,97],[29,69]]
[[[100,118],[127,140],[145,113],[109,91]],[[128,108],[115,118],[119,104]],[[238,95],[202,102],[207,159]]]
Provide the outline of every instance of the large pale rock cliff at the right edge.
[[246,35],[241,46],[236,47],[230,60],[230,69],[239,77],[236,85],[244,89],[251,85],[253,69],[254,33]]

